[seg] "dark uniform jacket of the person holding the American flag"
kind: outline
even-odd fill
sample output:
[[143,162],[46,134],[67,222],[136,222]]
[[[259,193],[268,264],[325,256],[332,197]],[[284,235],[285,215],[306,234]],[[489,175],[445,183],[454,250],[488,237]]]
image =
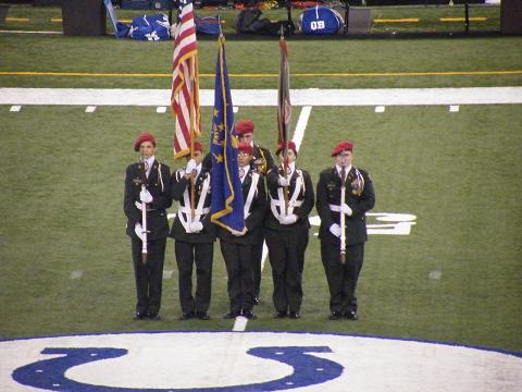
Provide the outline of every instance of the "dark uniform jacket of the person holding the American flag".
[[[182,224],[182,221],[179,219],[179,213],[182,213],[179,210],[176,213],[176,219],[174,220],[174,223],[172,224],[171,229],[171,234],[170,236],[178,240],[178,241],[185,241],[189,243],[212,243],[215,241],[215,225],[210,222],[210,204],[211,204],[211,189],[210,189],[210,173],[208,170],[204,169],[204,167],[201,168],[201,172],[196,179],[196,192],[195,192],[195,203],[194,206],[197,207],[201,197],[201,192],[203,188],[203,183],[209,180],[209,191],[207,193],[204,203],[203,203],[203,209],[208,209],[209,212],[203,213],[200,218],[200,222],[203,224],[203,230],[199,233],[187,233],[185,231],[185,228]],[[179,206],[182,207],[188,207],[190,208],[190,204],[188,206],[185,206],[185,197],[184,193],[185,191],[188,192],[188,199],[191,199],[191,192],[190,192],[190,179],[185,179],[185,170],[178,170],[176,173],[172,176],[171,180],[171,197],[174,200],[177,200],[179,203]],[[190,221],[191,217],[190,213],[184,216],[185,220],[187,222]]]

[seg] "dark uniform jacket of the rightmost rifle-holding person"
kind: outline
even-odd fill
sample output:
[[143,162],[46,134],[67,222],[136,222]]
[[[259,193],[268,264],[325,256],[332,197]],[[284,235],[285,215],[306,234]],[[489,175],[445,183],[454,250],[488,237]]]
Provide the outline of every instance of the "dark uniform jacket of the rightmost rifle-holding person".
[[[364,180],[362,189],[358,186],[358,172]],[[330,232],[332,223],[339,224],[341,213],[331,210],[331,205],[340,206],[340,177],[335,167],[321,172],[316,195],[315,208],[321,218],[319,237],[338,243]],[[346,245],[361,244],[368,240],[365,212],[375,204],[372,179],[366,171],[352,167],[348,172],[346,204],[353,211],[351,217],[346,216]]]

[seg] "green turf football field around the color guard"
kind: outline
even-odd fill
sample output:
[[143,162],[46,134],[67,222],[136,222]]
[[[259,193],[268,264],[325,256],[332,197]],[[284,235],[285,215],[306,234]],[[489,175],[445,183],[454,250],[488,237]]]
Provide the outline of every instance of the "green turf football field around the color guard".
[[[520,86],[513,74],[412,75],[522,70],[521,38],[289,41],[293,88]],[[276,42],[227,41],[233,74],[277,73]],[[245,56],[245,53],[249,56]],[[312,58],[310,53],[314,53]],[[405,56],[400,56],[405,53]],[[294,76],[398,72],[396,76]],[[200,45],[212,74],[216,44]],[[252,57],[256,61],[252,61]],[[138,59],[132,61],[132,59]],[[0,87],[169,88],[172,42],[0,35]],[[322,63],[325,63],[324,61]],[[161,73],[165,76],[21,76],[21,71]],[[232,77],[233,88],[276,88],[276,77]],[[202,77],[211,88],[212,78]],[[295,108],[294,126],[300,108]],[[210,125],[210,108],[203,108]],[[122,210],[126,164],[145,130],[173,168],[173,120],[154,108],[0,106],[0,338],[137,330],[229,330],[226,273],[215,252],[211,321],[177,320],[177,272],[167,245],[164,321],[135,322],[134,277]],[[275,108],[240,108],[258,138],[275,140]],[[522,351],[522,147],[520,105],[314,107],[299,162],[318,180],[336,140],[356,143],[356,164],[375,182],[374,212],[413,213],[409,236],[373,235],[359,286],[360,321],[332,322],[319,242],[304,269],[302,319],[272,319],[270,266],[248,330],[333,331]],[[204,131],[210,137],[208,131]],[[174,208],[171,209],[174,212]],[[313,212],[315,215],[315,212]],[[316,229],[312,230],[312,233]]]

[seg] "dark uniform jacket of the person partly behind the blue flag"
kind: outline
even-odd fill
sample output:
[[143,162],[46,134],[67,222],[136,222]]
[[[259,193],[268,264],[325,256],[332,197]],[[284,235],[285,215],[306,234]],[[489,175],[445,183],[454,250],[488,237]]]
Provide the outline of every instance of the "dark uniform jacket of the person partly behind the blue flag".
[[[250,191],[252,184],[252,170],[249,170],[243,181],[243,200],[245,201]],[[228,230],[220,228],[217,236],[220,240],[233,242],[236,244],[250,244],[256,245],[260,241],[260,233],[262,230],[263,219],[266,213],[266,192],[264,189],[264,179],[263,175],[259,175],[258,186],[256,195],[253,196],[252,204],[250,205],[250,215],[245,220],[245,225],[247,228],[247,233],[241,236],[235,236]]]

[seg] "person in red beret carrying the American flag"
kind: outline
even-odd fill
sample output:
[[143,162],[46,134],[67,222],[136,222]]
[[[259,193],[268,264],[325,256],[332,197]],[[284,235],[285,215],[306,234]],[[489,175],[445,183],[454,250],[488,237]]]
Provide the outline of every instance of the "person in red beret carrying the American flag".
[[[194,159],[185,169],[177,170],[171,181],[171,196],[179,201],[171,237],[175,240],[179,272],[179,304],[182,320],[197,317],[209,320],[208,314],[212,284],[212,260],[214,255],[215,226],[210,222],[210,173],[201,161],[202,146],[194,144]],[[194,217],[191,210],[190,174],[195,176]],[[192,296],[192,266],[196,265],[196,295]]]

